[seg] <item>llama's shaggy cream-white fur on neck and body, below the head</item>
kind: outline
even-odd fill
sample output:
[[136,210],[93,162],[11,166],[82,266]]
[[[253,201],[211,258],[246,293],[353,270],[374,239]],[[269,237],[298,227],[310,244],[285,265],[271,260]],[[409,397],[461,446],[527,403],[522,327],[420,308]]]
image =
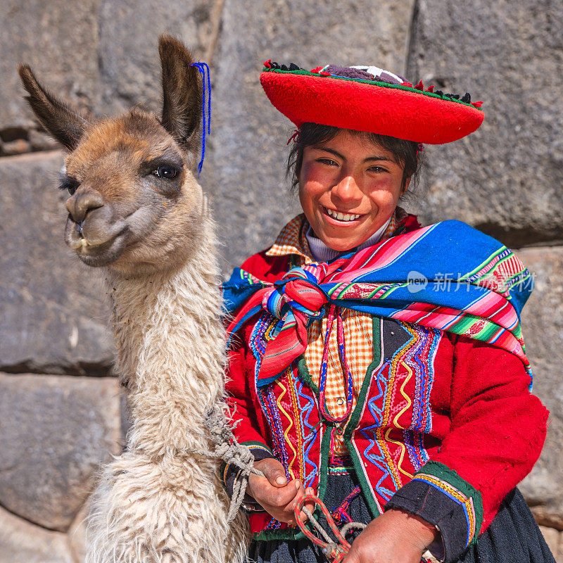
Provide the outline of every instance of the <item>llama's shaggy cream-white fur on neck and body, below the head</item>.
[[132,428],[93,496],[88,563],[245,557],[246,517],[227,523],[217,460],[186,453],[210,449],[204,415],[222,408],[226,361],[215,229],[205,211],[198,234],[176,272],[127,278],[107,270]]

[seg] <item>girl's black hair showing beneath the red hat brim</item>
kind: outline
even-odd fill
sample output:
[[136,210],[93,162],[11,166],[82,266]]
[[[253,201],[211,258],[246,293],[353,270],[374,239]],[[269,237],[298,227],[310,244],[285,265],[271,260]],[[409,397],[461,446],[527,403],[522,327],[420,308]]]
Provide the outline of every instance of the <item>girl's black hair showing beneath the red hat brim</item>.
[[[339,127],[319,125],[318,123],[303,123],[303,125],[301,125],[296,142],[291,146],[287,158],[286,175],[291,178],[292,189],[296,189],[299,184],[298,176],[301,172],[301,165],[303,164],[303,149],[306,146],[326,143],[334,139],[342,130],[343,129],[339,129]],[[418,143],[415,141],[396,139],[396,137],[387,137],[386,135],[379,135],[377,133],[353,131],[352,129],[346,129],[346,131],[382,146],[393,155],[395,162],[403,167],[403,179],[401,181],[402,190],[405,189],[409,178],[411,182],[414,181],[416,183],[421,166],[418,155],[420,145]]]

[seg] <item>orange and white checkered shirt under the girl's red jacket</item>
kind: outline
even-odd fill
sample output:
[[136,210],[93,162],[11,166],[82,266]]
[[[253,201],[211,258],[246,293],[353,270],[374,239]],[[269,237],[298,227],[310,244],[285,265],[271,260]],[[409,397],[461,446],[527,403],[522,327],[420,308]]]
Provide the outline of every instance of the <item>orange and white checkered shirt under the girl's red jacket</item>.
[[[381,239],[388,239],[398,227],[398,224],[407,216],[402,208],[396,208],[391,216]],[[268,256],[292,255],[295,265],[303,266],[315,262],[312,258],[309,243],[305,233],[309,223],[301,213],[293,218],[281,229],[276,241],[266,252]],[[349,350],[346,360],[352,372],[354,382],[353,407],[355,407],[360,388],[365,379],[369,364],[373,359],[373,330],[372,317],[367,313],[350,309],[341,310],[346,350]],[[305,350],[307,363],[312,381],[318,386],[322,353],[324,351],[324,336],[327,334],[327,317],[317,320],[308,329],[308,345]],[[336,320],[329,339],[329,354],[327,365],[327,387],[325,390],[325,403],[328,412],[334,417],[342,417],[346,413],[346,379],[340,362],[337,342]],[[346,445],[339,432],[336,432],[334,453],[346,453]]]

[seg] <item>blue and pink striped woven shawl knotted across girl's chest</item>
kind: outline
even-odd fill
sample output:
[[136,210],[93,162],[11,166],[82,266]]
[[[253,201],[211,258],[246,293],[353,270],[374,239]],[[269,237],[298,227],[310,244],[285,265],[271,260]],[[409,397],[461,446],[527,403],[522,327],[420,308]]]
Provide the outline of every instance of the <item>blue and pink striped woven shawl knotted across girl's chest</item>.
[[227,310],[237,311],[230,334],[258,315],[279,319],[260,362],[263,386],[303,353],[308,323],[332,305],[493,344],[517,355],[531,375],[519,318],[532,289],[529,271],[502,243],[443,221],[293,268],[274,284],[236,268],[223,296]]

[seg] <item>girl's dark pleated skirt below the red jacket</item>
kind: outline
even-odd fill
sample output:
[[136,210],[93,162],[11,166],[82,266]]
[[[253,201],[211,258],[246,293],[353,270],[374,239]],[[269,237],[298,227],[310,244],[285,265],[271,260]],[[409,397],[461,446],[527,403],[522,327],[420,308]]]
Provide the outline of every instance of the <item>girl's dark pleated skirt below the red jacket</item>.
[[[327,494],[324,503],[330,512],[343,507],[343,521],[349,517],[353,521],[367,524],[372,517],[353,472],[329,474]],[[350,495],[352,498],[350,499]],[[348,499],[348,502],[346,502]],[[326,521],[319,519],[325,530],[329,530]],[[251,544],[249,559],[256,563],[326,563],[324,555],[317,545],[308,539],[255,541]],[[555,563],[540,529],[526,505],[521,493],[515,488],[500,507],[491,526],[479,536],[476,545],[472,545],[459,563]],[[456,562],[456,563],[457,563]]]

